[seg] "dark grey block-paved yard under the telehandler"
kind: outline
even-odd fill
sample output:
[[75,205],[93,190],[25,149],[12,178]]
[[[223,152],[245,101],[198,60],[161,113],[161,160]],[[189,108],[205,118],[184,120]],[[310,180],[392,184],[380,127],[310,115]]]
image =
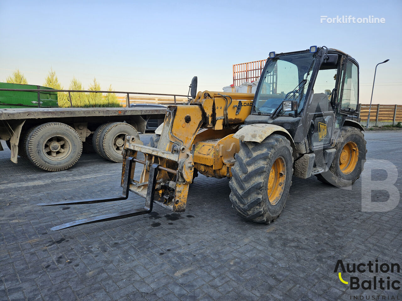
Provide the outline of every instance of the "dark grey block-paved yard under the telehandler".
[[[150,136],[141,138],[148,143]],[[381,168],[388,165],[373,160],[388,160],[399,173],[395,186],[401,193],[402,133],[365,136],[367,159],[376,166],[365,169],[365,179],[384,180]],[[338,259],[402,265],[402,202],[388,212],[361,210],[362,189],[378,187],[375,182],[367,187],[359,179],[351,189],[339,189],[315,177],[293,177],[283,213],[261,225],[235,214],[228,179],[200,175],[184,214],[156,206],[151,215],[53,232],[51,227],[64,222],[142,207],[144,200],[131,195],[111,204],[38,207],[117,195],[121,166],[83,154],[71,169],[49,173],[27,159],[11,163],[2,144],[0,300],[402,299],[399,291],[351,290],[334,273]],[[388,195],[369,193],[373,201],[387,201]],[[400,273],[391,276],[402,280]]]

